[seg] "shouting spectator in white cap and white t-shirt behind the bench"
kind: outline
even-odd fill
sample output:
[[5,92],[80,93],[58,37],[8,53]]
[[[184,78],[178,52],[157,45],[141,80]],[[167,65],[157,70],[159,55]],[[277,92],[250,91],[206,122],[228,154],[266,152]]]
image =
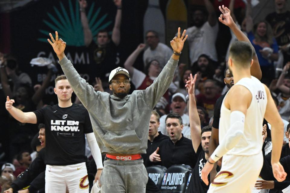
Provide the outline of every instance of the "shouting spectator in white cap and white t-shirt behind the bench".
[[[183,123],[182,134],[186,135],[184,137],[190,138],[189,117],[188,117],[188,115],[184,114],[186,102],[187,102],[187,100],[186,100],[184,94],[175,93],[171,99],[170,109],[172,110],[172,113],[177,113],[181,116],[182,123]],[[158,131],[161,131],[162,134],[169,136],[169,134],[166,130],[166,124],[165,124],[166,116],[167,115],[163,115],[162,117],[160,117],[160,126],[158,128]]]

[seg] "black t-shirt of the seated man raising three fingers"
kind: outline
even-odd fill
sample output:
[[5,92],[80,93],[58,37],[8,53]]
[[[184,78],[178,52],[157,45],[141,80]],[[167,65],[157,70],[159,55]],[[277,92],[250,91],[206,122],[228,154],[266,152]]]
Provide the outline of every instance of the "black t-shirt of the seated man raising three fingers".
[[[194,169],[191,171],[191,179],[187,188],[187,193],[206,193],[209,185],[206,185],[201,179],[201,170],[205,166],[205,151],[202,149],[201,144],[196,151],[197,162]],[[210,175],[208,175],[208,182],[210,182]]]

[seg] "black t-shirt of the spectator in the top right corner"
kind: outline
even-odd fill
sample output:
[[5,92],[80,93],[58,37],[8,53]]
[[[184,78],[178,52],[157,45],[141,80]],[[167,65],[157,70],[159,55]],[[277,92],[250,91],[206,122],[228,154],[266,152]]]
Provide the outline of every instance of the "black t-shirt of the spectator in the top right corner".
[[290,43],[288,33],[290,33],[290,11],[278,14],[276,12],[270,13],[266,16],[266,21],[272,27],[274,37],[279,46]]

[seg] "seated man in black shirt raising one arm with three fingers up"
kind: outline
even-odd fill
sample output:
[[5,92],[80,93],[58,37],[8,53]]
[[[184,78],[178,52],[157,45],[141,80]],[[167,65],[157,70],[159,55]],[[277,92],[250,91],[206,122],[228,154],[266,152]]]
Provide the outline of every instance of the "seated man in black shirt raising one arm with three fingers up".
[[[209,185],[206,185],[201,179],[201,170],[209,158],[208,148],[209,139],[211,137],[211,126],[205,126],[201,129],[201,123],[198,116],[198,111],[195,102],[195,87],[196,75],[194,78],[190,74],[190,80],[187,81],[186,87],[188,87],[189,97],[189,125],[190,134],[192,139],[192,146],[196,153],[197,163],[192,170],[192,176],[189,181],[189,185],[186,192],[190,193],[206,193]],[[210,179],[210,175],[208,176]]]

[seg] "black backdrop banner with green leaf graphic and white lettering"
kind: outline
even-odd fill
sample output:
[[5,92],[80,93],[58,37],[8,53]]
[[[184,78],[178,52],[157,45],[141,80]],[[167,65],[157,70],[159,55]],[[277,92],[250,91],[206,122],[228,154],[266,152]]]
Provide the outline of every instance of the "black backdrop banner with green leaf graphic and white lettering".
[[[96,36],[98,31],[104,28],[111,33],[117,11],[114,2],[109,0],[88,0],[87,2],[86,14],[93,36]],[[145,5],[136,4],[133,1],[123,1],[123,10],[126,11],[122,13],[122,39],[120,46],[118,46],[119,57],[116,58],[116,63],[119,63],[120,66],[123,66],[125,57],[143,41],[143,24],[137,21],[143,21],[142,9],[145,12],[147,8],[147,2],[144,1],[144,3]],[[89,65],[92,64],[89,63],[89,52],[84,46],[78,0],[30,2],[10,13],[10,24],[11,53],[17,56],[19,68],[31,76],[33,84],[41,84],[47,73],[47,68],[31,67],[32,58],[47,57],[56,62],[59,70],[56,75],[63,73],[57,63],[57,56],[47,42],[48,33],[54,34],[55,31],[58,31],[59,37],[66,41],[65,54],[72,61],[79,74],[87,81],[92,81],[95,78],[94,71],[88,71]],[[51,103],[51,99],[54,100],[54,103],[57,101],[56,97],[51,97],[54,95],[54,78],[55,75],[51,79],[50,87],[46,89],[44,102]]]

